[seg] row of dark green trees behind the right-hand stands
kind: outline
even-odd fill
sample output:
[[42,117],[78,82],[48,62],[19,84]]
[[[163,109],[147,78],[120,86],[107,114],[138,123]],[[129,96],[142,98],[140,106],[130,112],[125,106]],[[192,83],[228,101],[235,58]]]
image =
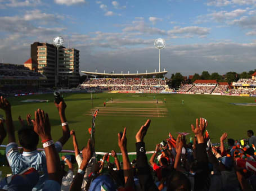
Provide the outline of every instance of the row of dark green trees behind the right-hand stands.
[[218,72],[213,72],[209,74],[208,71],[203,71],[201,75],[195,73],[192,79],[185,80],[184,76],[180,72],[176,74],[172,74],[171,78],[169,79],[169,85],[172,88],[178,88],[181,84],[191,84],[194,83],[195,80],[217,80],[218,82],[227,82],[231,84],[233,81],[237,81],[240,78],[251,78],[251,75],[256,71],[250,70],[248,72],[244,71],[240,74],[237,72],[227,72],[226,74],[218,74]]

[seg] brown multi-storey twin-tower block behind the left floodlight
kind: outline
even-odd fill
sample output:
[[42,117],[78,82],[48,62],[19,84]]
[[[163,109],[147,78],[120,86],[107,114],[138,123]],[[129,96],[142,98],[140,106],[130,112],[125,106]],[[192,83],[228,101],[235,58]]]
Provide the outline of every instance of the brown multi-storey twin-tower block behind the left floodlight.
[[31,44],[30,51],[31,66],[28,61],[24,65],[47,77],[41,85],[54,87],[57,81],[57,87],[77,87],[79,84],[79,51],[77,49],[65,47],[57,49],[53,44],[34,42]]

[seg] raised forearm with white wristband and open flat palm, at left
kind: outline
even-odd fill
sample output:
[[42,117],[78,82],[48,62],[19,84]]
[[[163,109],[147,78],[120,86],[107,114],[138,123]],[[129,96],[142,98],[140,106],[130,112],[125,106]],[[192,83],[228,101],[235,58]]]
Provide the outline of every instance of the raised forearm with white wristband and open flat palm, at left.
[[52,140],[48,114],[44,114],[43,110],[38,109],[35,111],[35,120],[32,120],[32,122],[34,131],[41,137],[44,151],[46,152],[46,165],[49,179],[55,180],[61,184],[60,157]]

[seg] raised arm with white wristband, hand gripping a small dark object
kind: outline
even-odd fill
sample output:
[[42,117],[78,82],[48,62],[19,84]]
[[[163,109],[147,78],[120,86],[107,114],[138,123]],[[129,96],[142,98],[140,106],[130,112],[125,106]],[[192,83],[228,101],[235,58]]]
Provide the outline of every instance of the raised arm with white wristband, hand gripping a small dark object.
[[63,146],[70,138],[69,125],[65,115],[66,103],[62,100],[59,104],[55,103],[55,106],[57,107],[60,115],[63,135],[59,139],[59,142],[61,142]]

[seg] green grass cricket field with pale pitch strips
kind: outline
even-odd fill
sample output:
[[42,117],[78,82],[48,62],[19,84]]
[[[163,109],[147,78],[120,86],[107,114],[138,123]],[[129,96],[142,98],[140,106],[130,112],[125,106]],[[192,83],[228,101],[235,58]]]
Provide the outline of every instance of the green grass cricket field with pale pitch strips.
[[[156,104],[154,99],[159,100]],[[187,94],[93,94],[93,108],[91,94],[64,94],[67,104],[66,117],[70,130],[74,129],[78,143],[82,148],[88,138],[88,128],[91,127],[91,113],[100,108],[96,119],[96,151],[110,152],[116,149],[117,134],[127,127],[128,152],[135,151],[135,134],[147,119],[151,125],[145,142],[147,151],[152,151],[156,143],[168,138],[171,132],[175,137],[177,132],[191,132],[191,123],[195,124],[196,117],[208,120],[208,131],[213,143],[219,142],[223,132],[234,139],[246,138],[247,130],[255,130],[256,106],[236,106],[230,103],[255,103],[253,97],[228,97],[221,95],[187,95]],[[111,102],[113,98],[113,103]],[[163,103],[163,99],[167,103]],[[15,128],[20,128],[18,116],[25,119],[26,113],[33,113],[37,108],[48,112],[52,126],[52,137],[56,141],[61,137],[61,122],[53,95],[28,95],[8,98],[12,104]],[[25,103],[25,99],[49,99],[49,103]],[[108,99],[106,108],[103,102]],[[185,103],[181,101],[184,99]],[[3,111],[0,111],[3,115]],[[7,144],[7,139],[3,142]],[[42,145],[39,144],[42,148]],[[64,149],[72,149],[70,139]]]

